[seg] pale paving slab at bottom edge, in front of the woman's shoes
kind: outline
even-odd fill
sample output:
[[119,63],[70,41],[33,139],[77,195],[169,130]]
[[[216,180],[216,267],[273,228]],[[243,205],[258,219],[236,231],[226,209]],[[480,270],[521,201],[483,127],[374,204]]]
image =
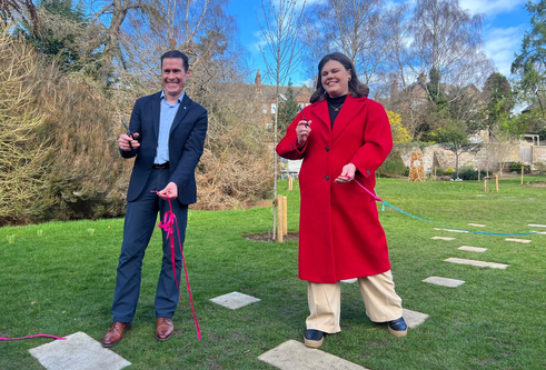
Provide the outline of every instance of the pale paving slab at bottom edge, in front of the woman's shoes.
[[369,370],[337,356],[307,348],[297,340],[286,341],[258,359],[281,370]]

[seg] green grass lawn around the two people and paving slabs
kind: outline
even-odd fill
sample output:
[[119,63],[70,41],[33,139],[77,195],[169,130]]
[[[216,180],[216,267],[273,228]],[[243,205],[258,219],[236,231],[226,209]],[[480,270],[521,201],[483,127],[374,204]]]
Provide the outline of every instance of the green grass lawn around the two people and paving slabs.
[[[484,198],[477,197],[483,194],[477,181],[379,179],[376,190],[407,212],[455,228],[526,232],[536,230],[528,223],[546,224],[545,189],[520,187],[519,179],[500,180],[500,192]],[[288,196],[288,229],[296,231],[299,193],[286,191],[286,182],[281,192]],[[190,211],[189,217],[185,256],[202,340],[197,340],[185,288],[188,308],[179,307],[175,316],[175,337],[155,340],[153,296],[161,258],[156,232],[143,263],[133,329],[112,350],[132,362],[130,369],[272,369],[257,357],[289,339],[302,341],[308,314],[306,282],[297,278],[297,242],[241,238],[267,232],[270,208]],[[343,331],[329,336],[321,350],[373,370],[546,368],[546,236],[526,236],[533,242],[520,244],[500,236],[434,231],[433,224],[388,207],[379,217],[404,307],[430,318],[406,338],[394,338],[385,324],[366,317],[358,287],[344,284]],[[122,224],[122,219],[112,219],[0,229],[0,337],[85,331],[100,340],[111,321]],[[434,236],[456,240],[431,240]],[[488,250],[473,253],[458,250],[460,246]],[[443,261],[449,257],[510,267]],[[421,282],[430,276],[466,283],[445,288]],[[235,311],[209,301],[231,291],[261,301]],[[40,369],[28,350],[49,341],[0,342],[0,368]]]

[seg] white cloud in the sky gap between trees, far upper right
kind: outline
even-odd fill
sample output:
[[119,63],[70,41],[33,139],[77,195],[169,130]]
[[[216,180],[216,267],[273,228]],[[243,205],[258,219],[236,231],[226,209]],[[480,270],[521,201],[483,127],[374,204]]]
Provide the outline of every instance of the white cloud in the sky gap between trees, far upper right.
[[485,34],[485,50],[493,59],[498,72],[510,76],[514,53],[519,51],[526,26],[509,28],[490,28]]

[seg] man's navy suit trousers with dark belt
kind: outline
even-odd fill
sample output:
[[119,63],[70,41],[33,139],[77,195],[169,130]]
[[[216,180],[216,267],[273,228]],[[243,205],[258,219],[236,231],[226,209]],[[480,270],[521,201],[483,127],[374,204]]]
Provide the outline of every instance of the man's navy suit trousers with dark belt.
[[[161,220],[169,210],[169,202],[162,200],[153,190],[162,190],[169,182],[169,169],[152,169],[148,182],[140,196],[127,203],[127,212],[123,226],[123,242],[116,278],[116,290],[112,309],[113,321],[132,322],[140,294],[140,280],[145,251],[156,227],[158,212]],[[182,259],[180,244],[183,244],[186,224],[188,219],[188,206],[181,204],[177,199],[171,200],[172,212],[177,217],[178,230],[175,229],[175,266],[177,280],[180,282]],[[162,232],[163,258],[161,272],[156,290],[156,317],[172,318],[178,306],[179,287],[177,287],[172,272],[170,239],[167,232]],[[180,244],[179,244],[180,240]]]

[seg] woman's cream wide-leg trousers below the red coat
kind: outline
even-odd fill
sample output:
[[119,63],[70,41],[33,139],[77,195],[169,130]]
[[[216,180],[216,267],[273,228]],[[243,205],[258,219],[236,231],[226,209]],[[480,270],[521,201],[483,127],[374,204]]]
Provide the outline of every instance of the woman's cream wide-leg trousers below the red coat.
[[[375,322],[396,320],[401,317],[401,298],[395,292],[393,274],[389,271],[371,277],[358,278],[358,287],[366,307],[366,314]],[[307,300],[310,316],[307,329],[327,333],[341,331],[341,283],[307,282]]]

